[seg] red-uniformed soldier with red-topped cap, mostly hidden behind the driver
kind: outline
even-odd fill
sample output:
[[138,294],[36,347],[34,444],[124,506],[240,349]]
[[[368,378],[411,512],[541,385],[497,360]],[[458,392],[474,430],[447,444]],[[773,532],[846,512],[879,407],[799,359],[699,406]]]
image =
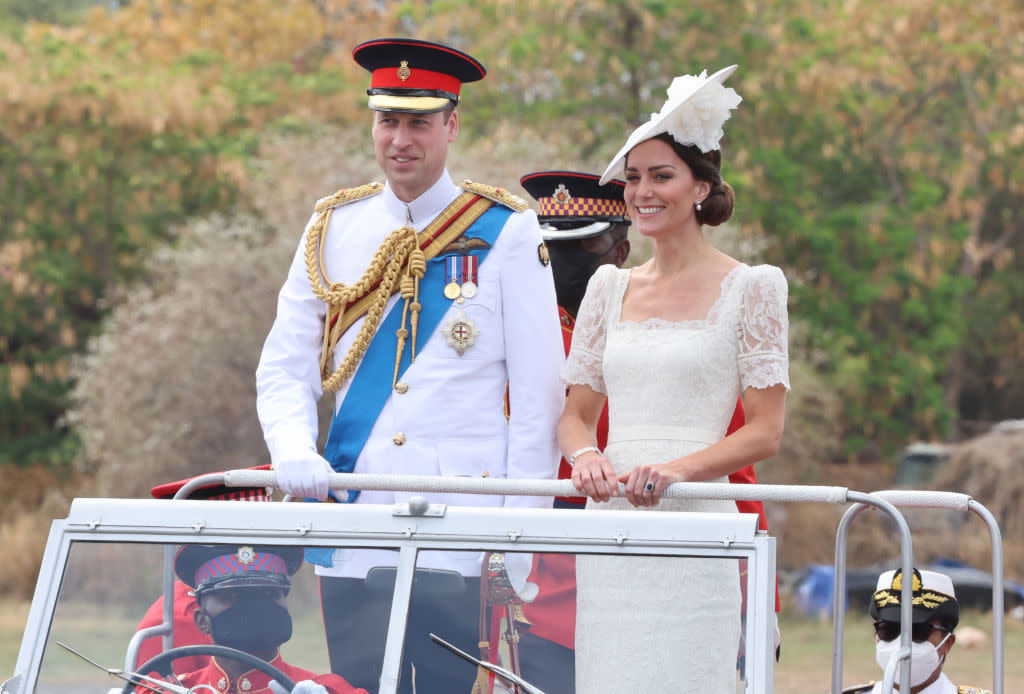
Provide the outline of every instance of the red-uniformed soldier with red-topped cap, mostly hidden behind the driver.
[[[253,470],[269,469],[269,465],[253,468]],[[153,494],[154,498],[174,498],[175,494],[177,494],[185,484],[191,482],[193,479],[195,478],[160,484],[153,487],[150,490],[150,493]],[[214,482],[205,484],[198,489],[194,489],[185,496],[185,498],[231,502],[269,502],[270,495],[263,487],[225,487],[220,483]],[[191,594],[191,589],[180,580],[174,581],[174,596],[172,603],[174,627],[172,632],[173,641],[171,645],[173,648],[177,648],[178,646],[196,646],[200,644],[213,643],[209,636],[201,633],[196,626],[196,621],[193,615],[199,608],[199,603],[196,602],[196,598]],[[141,632],[143,628],[157,626],[163,623],[163,621],[164,598],[161,596],[157,599],[157,602],[153,603],[150,609],[146,610],[145,614],[142,616],[142,620],[138,623],[138,626],[135,627],[135,631]],[[139,645],[138,656],[135,659],[135,666],[137,667],[146,660],[159,655],[163,652],[163,637],[150,637]],[[188,673],[197,670],[205,666],[209,660],[210,658],[205,655],[189,655],[178,658],[174,661],[174,671]]]

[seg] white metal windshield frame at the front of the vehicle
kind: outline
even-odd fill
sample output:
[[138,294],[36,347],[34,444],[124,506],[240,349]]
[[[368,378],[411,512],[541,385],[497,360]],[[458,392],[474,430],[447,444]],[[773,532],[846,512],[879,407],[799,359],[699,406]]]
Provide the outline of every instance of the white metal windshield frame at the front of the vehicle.
[[54,520],[50,528],[14,677],[5,684],[4,694],[35,690],[74,544],[242,540],[399,550],[379,694],[393,694],[397,686],[404,621],[421,550],[745,559],[744,691],[772,692],[774,633],[769,617],[774,611],[775,539],[758,531],[755,515],[416,504],[275,503],[268,507],[186,500],[75,500],[68,517]]

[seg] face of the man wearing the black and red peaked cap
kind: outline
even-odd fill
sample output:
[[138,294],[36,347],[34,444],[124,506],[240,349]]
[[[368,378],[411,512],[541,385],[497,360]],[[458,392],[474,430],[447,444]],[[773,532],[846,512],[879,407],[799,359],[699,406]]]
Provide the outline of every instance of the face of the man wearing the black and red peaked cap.
[[374,112],[374,154],[395,196],[410,203],[437,182],[449,144],[459,133],[459,114]]

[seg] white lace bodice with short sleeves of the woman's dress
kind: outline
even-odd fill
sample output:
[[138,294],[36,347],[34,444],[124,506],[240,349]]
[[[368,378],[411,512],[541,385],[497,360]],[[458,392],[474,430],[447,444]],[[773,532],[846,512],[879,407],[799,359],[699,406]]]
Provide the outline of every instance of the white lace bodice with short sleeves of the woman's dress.
[[746,388],[788,390],[787,287],[771,265],[737,265],[702,320],[621,319],[630,271],[591,278],[562,373],[608,395],[609,441],[725,436]]

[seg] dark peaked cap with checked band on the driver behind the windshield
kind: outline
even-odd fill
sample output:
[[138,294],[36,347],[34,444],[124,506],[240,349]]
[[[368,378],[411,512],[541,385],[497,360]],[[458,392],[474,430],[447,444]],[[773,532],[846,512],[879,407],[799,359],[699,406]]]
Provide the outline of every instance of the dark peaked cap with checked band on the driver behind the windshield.
[[196,595],[228,588],[291,588],[302,549],[251,545],[185,545],[174,572]]

